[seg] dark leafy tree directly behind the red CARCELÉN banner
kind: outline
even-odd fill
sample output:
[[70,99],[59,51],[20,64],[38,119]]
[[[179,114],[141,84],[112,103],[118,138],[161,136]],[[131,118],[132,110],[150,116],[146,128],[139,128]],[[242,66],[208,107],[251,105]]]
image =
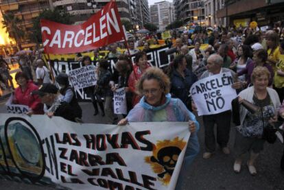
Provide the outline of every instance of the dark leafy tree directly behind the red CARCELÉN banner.
[[49,21],[54,21],[56,23],[62,23],[66,25],[72,24],[71,14],[69,14],[69,12],[65,10],[55,8],[54,10],[44,10],[43,12],[40,12],[38,17],[36,17],[32,21],[32,33],[34,34],[34,36],[29,35],[30,40],[34,41],[36,44],[42,43],[43,41],[43,39],[41,38],[40,19],[46,19]]

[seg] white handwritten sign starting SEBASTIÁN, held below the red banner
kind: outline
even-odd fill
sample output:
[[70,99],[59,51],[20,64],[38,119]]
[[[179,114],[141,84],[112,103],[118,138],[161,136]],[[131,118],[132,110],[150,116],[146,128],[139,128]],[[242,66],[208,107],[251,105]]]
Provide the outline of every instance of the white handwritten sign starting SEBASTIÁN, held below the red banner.
[[97,84],[94,65],[69,71],[69,78],[75,89],[82,89]]

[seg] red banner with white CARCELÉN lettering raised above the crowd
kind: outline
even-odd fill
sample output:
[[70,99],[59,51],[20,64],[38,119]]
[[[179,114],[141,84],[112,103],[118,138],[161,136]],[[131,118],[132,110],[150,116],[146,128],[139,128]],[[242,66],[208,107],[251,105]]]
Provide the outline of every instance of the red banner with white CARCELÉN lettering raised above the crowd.
[[73,54],[123,40],[124,33],[114,1],[82,25],[64,25],[40,20],[46,54]]

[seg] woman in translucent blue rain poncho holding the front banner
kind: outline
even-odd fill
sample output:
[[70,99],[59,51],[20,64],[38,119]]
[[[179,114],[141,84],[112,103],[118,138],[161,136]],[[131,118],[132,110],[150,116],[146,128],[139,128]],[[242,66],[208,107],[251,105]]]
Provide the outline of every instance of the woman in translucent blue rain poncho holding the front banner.
[[[137,84],[137,91],[143,95],[139,104],[135,106],[125,119],[119,121],[123,126],[129,122],[152,122],[152,121],[185,121],[189,122],[191,136],[187,150],[185,152],[185,161],[180,172],[180,177],[185,178],[185,170],[192,163],[199,152],[199,143],[196,130],[199,129],[199,123],[196,117],[187,110],[185,104],[180,99],[171,98],[169,94],[169,78],[161,69],[150,68],[142,75]],[[174,126],[173,126],[174,127]],[[179,178],[178,186],[180,186]],[[176,187],[178,189],[178,187]]]

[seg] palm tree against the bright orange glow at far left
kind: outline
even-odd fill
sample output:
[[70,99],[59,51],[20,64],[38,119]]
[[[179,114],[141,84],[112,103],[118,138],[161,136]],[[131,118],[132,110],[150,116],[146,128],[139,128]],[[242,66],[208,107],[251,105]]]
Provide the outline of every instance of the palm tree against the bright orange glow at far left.
[[6,28],[9,37],[13,38],[16,41],[19,49],[22,49],[21,38],[25,35],[23,27],[21,26],[22,20],[14,16],[11,12],[3,14],[2,25],[3,28]]

